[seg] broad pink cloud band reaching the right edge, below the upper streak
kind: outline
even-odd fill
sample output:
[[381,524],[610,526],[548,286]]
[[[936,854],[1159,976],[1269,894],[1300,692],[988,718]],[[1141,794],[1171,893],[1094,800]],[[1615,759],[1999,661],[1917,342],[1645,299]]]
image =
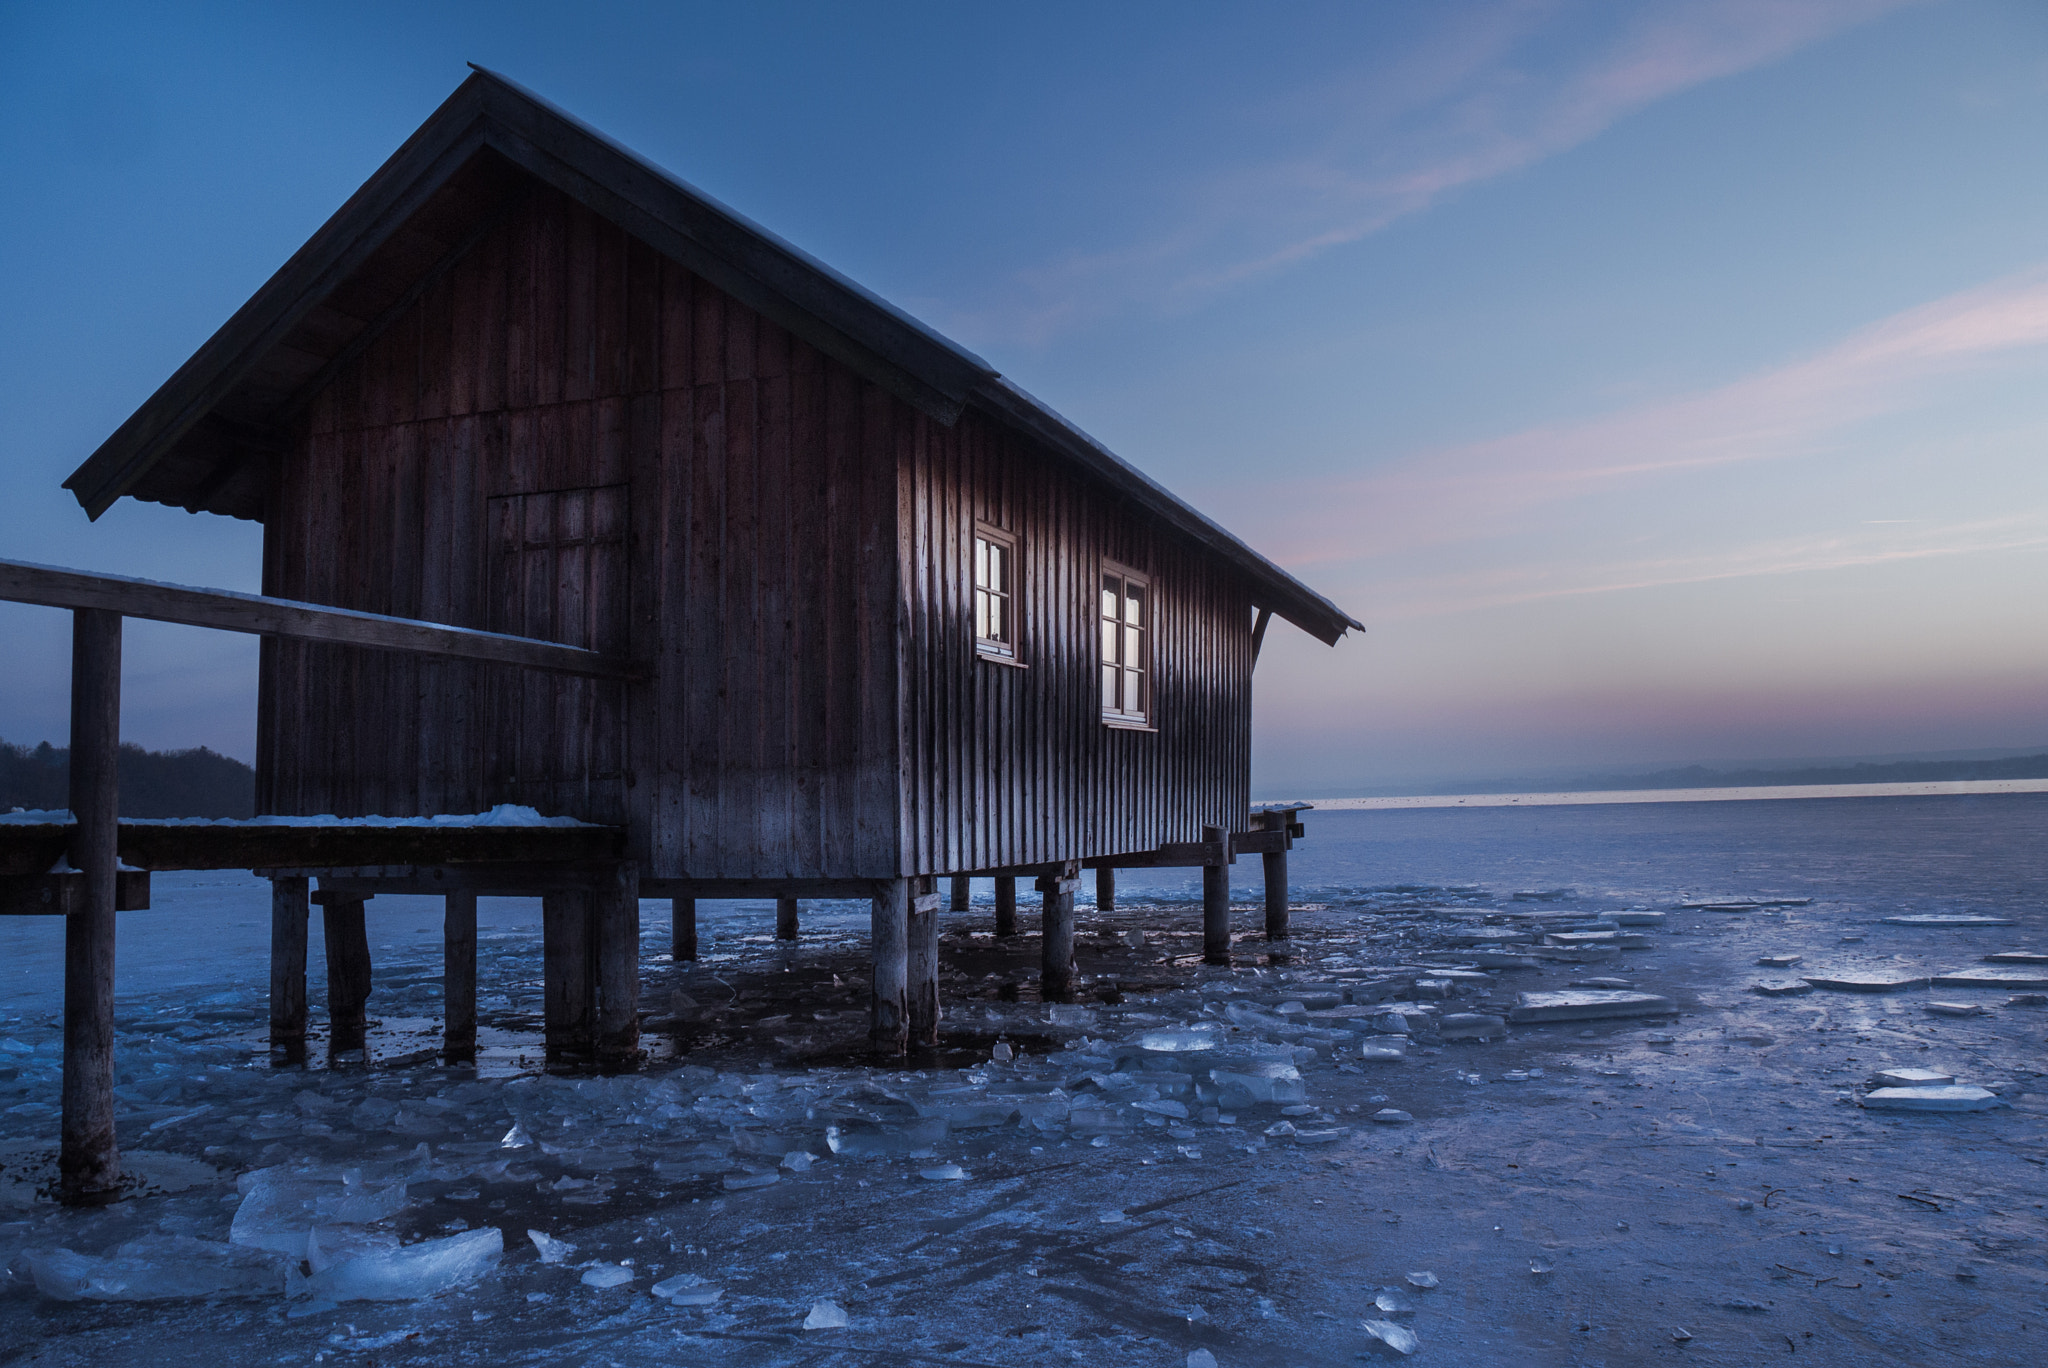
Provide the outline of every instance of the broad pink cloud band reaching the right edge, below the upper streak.
[[[1331,487],[1268,489],[1290,563],[1417,551],[1526,526],[1548,504],[1718,465],[1829,448],[1942,377],[2048,346],[2048,264],[1907,309],[1815,354],[1602,418],[1421,453]],[[1311,498],[1313,496],[1313,498]],[[1300,508],[1309,508],[1300,516]]]

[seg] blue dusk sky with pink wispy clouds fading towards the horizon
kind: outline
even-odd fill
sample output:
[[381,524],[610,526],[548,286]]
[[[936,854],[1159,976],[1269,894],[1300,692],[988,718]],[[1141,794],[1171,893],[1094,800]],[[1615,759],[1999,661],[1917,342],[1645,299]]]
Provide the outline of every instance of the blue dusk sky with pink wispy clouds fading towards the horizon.
[[[0,0],[0,555],[479,61],[989,358],[1366,623],[1253,788],[2048,747],[2048,6]],[[0,737],[66,614],[0,604]],[[254,752],[137,623],[123,731]]]

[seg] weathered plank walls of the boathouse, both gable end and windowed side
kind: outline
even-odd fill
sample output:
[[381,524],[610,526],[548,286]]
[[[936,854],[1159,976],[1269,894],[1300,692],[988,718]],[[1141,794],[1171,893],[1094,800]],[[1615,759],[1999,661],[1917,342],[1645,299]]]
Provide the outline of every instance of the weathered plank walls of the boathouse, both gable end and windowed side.
[[[1026,670],[973,653],[977,516],[1020,537]],[[1100,557],[1153,575],[1157,733],[1100,723]],[[649,877],[795,879],[1149,850],[1247,807],[1235,575],[549,188],[317,395],[264,592],[647,670],[266,643],[264,811],[528,803],[627,823]]]

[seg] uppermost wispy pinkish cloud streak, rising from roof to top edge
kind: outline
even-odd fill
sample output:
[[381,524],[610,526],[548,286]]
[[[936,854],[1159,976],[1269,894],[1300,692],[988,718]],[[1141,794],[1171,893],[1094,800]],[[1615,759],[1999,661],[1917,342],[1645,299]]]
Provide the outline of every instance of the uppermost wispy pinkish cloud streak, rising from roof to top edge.
[[950,322],[1036,342],[1108,311],[1186,307],[1917,2],[1642,0],[1618,25],[1583,0],[1450,6],[1407,49],[1251,111],[1276,154],[1188,184],[1143,240],[1026,272]]

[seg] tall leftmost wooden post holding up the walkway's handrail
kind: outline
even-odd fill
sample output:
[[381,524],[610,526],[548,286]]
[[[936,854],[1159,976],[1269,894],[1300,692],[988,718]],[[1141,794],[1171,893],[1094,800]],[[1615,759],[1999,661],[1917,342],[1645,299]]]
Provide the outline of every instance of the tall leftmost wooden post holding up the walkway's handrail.
[[121,614],[72,612],[72,868],[84,905],[63,920],[63,1202],[111,1202],[115,1143],[115,870],[121,838]]

